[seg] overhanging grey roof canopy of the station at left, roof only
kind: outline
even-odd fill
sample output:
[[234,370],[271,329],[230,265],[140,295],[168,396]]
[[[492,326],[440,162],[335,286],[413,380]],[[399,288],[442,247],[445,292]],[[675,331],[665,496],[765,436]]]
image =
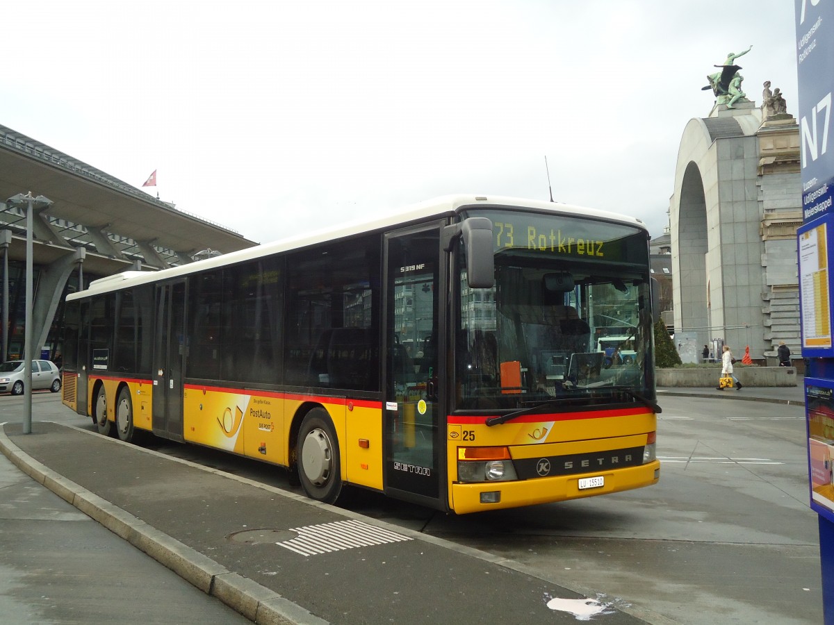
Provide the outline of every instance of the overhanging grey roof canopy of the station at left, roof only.
[[173,267],[256,244],[0,125],[0,229],[13,233],[13,260],[25,259],[27,206],[8,198],[28,192],[52,201],[38,208],[35,263],[84,248],[85,271],[109,275]]

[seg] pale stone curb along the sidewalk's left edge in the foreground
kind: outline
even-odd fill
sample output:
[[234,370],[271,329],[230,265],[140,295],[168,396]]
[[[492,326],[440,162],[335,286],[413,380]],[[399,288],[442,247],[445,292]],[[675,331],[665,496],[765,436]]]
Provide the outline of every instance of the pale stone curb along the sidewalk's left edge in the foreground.
[[53,472],[23,453],[8,438],[2,427],[0,451],[35,482],[250,621],[264,625],[329,625],[329,622],[314,616],[277,592],[229,571],[211,558]]

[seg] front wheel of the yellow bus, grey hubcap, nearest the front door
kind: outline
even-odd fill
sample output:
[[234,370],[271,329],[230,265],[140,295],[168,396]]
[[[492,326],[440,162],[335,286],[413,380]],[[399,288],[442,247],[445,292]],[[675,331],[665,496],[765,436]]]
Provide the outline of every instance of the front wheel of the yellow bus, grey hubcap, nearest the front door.
[[304,493],[323,503],[334,503],[342,491],[339,440],[324,408],[314,408],[299,430],[299,479]]

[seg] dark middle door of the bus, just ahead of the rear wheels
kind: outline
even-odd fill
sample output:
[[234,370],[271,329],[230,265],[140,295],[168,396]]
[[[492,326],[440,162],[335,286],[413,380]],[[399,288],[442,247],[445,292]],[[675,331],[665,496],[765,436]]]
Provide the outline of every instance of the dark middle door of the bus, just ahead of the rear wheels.
[[153,344],[153,433],[183,440],[185,281],[158,284]]

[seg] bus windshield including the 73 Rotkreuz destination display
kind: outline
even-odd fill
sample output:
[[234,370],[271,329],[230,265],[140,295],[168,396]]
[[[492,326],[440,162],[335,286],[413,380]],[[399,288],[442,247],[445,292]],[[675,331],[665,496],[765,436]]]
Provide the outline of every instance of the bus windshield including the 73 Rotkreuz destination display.
[[572,216],[477,215],[493,222],[495,286],[469,288],[459,255],[455,408],[653,398],[646,232]]

